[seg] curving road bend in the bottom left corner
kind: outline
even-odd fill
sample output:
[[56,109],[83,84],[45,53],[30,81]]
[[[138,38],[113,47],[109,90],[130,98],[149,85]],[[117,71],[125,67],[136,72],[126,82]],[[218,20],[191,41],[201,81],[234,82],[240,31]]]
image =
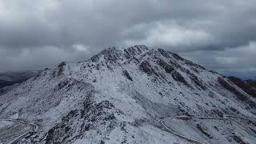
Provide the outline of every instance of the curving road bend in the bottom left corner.
[[22,140],[22,138],[25,138],[28,134],[30,134],[30,132],[34,132],[34,131],[38,130],[38,125],[36,125],[34,123],[26,122],[26,121],[21,120],[21,119],[0,118],[0,121],[16,122],[16,123],[21,123],[21,124],[26,125],[26,126],[30,126],[30,130],[26,131],[23,134],[20,134],[17,138],[14,138],[10,142],[7,142],[8,144],[16,144],[16,143],[20,142]]

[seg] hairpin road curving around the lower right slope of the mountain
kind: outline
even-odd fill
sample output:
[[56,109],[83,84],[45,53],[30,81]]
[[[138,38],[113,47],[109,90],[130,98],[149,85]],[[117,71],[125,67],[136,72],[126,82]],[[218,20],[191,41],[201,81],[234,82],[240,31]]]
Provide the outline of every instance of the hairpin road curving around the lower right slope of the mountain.
[[[170,118],[170,117],[168,117]],[[176,116],[172,119],[181,119],[181,120],[191,120],[193,118],[198,118],[198,119],[214,119],[214,120],[232,120],[231,118],[238,118],[238,119],[244,119],[244,120],[248,120],[248,121],[256,121],[255,118],[243,118],[243,117],[238,117],[238,116],[234,116],[234,115],[224,115],[223,117],[200,117],[200,116]],[[165,124],[165,118],[162,118],[159,120],[160,124],[168,131],[170,132],[170,134],[174,134],[176,136],[178,136],[179,138],[183,138],[188,142],[192,142],[192,143],[196,143],[196,144],[206,144],[207,142],[200,142],[194,138],[189,138],[188,136],[184,135],[184,134],[180,134],[178,133],[176,130],[166,126]]]

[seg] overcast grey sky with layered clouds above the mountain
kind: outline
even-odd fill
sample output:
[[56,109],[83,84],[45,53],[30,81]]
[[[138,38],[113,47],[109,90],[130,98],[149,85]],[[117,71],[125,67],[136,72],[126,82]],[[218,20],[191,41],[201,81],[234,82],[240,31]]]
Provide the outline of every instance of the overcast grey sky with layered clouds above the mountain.
[[255,0],[0,0],[0,71],[144,44],[256,77]]

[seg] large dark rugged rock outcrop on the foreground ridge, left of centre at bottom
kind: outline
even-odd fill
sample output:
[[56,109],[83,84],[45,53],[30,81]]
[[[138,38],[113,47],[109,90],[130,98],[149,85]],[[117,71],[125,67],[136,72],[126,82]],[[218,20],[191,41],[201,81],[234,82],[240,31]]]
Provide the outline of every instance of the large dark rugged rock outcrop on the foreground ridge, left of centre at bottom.
[[106,127],[107,131],[114,130],[117,126],[114,109],[109,101],[94,104],[87,100],[82,110],[71,110],[62,118],[62,122],[46,133],[46,143],[70,143],[76,138],[82,138],[85,131],[98,130],[100,127]]

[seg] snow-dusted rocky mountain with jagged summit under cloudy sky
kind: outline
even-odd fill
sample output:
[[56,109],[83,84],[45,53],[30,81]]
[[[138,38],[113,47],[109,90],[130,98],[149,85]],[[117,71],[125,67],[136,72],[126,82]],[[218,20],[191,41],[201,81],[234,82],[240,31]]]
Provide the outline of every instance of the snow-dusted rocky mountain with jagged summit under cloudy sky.
[[[175,117],[198,116],[223,119]],[[256,142],[256,99],[229,78],[178,54],[110,47],[85,62],[62,62],[0,90],[0,117],[38,130],[24,143]]]

